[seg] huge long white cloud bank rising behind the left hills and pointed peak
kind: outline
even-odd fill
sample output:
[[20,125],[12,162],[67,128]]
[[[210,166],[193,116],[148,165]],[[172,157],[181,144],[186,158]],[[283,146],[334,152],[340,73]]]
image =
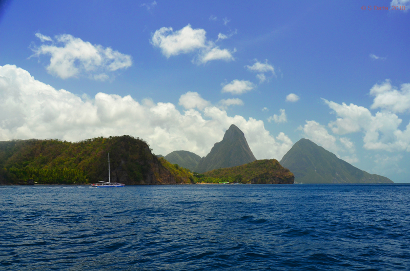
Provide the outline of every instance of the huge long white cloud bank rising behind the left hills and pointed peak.
[[[138,102],[131,96],[97,93],[83,99],[35,80],[12,65],[0,66],[0,141],[59,138],[78,141],[97,136],[132,135],[145,139],[157,154],[188,150],[207,155],[235,124],[258,159],[280,160],[292,147],[284,133],[276,137],[262,120],[228,116],[194,92],[181,96],[181,112],[170,102]],[[195,108],[203,108],[202,111]]]

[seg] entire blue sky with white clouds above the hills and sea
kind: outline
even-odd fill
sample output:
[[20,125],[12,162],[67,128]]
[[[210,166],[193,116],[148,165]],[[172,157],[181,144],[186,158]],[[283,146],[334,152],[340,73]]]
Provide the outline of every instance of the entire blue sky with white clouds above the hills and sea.
[[[392,8],[392,6],[394,6]],[[396,7],[397,6],[397,7]],[[410,182],[410,0],[0,1],[0,141],[311,139]]]

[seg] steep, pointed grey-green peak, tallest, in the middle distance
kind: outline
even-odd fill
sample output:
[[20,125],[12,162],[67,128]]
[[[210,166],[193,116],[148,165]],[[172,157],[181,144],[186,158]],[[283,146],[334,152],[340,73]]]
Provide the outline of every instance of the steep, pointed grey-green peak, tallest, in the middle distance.
[[199,161],[195,171],[203,173],[219,168],[231,168],[255,160],[243,132],[232,124],[222,141],[215,143],[211,152]]

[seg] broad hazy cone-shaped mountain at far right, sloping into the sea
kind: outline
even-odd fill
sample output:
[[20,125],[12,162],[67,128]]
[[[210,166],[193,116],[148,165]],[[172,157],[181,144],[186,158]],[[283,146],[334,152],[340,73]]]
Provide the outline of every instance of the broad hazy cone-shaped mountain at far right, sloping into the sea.
[[301,183],[393,183],[392,180],[359,170],[309,139],[300,139],[280,164]]

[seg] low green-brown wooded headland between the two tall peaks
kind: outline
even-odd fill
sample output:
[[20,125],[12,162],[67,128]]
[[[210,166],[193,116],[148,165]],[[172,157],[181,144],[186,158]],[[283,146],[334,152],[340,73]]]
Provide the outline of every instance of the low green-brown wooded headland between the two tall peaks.
[[233,168],[209,171],[203,175],[252,184],[291,184],[295,179],[292,172],[283,168],[276,159],[256,160]]

